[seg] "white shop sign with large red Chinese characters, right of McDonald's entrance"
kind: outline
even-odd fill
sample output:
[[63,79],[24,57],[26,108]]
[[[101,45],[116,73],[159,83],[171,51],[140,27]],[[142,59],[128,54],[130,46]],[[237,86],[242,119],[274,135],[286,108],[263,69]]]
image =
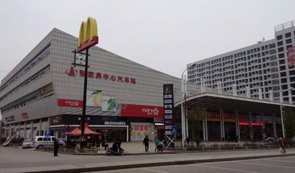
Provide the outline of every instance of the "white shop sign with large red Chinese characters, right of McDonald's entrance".
[[144,137],[150,137],[151,127],[150,126],[131,126],[131,140],[143,140]]

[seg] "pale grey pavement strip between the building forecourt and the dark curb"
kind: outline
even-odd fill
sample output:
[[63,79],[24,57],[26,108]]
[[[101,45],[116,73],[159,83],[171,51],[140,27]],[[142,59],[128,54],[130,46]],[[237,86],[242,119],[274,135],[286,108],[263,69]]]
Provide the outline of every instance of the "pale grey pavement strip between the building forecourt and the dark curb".
[[[145,154],[145,153],[142,153]],[[295,149],[287,150],[287,154],[295,156]],[[188,164],[200,162],[212,162],[213,159],[246,159],[246,157],[268,157],[283,154],[279,150],[259,151],[227,151],[227,152],[206,152],[206,153],[181,153],[181,154],[159,154],[155,155],[125,155],[125,156],[85,156],[58,154],[35,151],[35,149],[21,149],[0,147],[0,172],[33,172],[49,170],[109,170],[115,168],[132,168],[144,166],[156,166],[167,164]],[[277,156],[276,156],[277,157]],[[240,159],[239,159],[240,158]],[[242,159],[241,159],[242,158]],[[160,163],[160,164],[158,164]],[[121,166],[121,167],[120,167]],[[106,169],[101,169],[105,167]],[[13,168],[13,169],[11,169]],[[96,168],[96,169],[87,169]],[[99,169],[97,169],[99,168]],[[77,172],[77,171],[67,171]],[[143,173],[143,172],[142,172]]]

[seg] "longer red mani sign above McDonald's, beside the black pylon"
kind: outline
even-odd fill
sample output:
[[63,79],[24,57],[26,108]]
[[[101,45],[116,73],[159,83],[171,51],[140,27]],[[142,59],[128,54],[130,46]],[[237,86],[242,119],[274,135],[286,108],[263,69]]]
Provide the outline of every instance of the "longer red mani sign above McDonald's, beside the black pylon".
[[164,118],[164,109],[160,106],[144,106],[135,104],[122,104],[122,117]]

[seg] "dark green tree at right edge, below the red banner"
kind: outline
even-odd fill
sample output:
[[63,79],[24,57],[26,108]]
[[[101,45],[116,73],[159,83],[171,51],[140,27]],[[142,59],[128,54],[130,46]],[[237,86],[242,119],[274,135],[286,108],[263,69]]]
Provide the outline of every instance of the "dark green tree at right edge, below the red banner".
[[295,113],[291,109],[286,109],[283,116],[285,138],[291,139],[295,136]]

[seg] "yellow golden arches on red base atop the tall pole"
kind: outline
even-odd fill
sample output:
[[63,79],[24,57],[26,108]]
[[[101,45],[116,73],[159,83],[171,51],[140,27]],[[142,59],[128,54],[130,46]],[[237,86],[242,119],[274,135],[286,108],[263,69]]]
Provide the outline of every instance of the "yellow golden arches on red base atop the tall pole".
[[77,51],[84,51],[86,48],[98,44],[98,32],[96,19],[88,17],[87,21],[82,21],[79,32]]

